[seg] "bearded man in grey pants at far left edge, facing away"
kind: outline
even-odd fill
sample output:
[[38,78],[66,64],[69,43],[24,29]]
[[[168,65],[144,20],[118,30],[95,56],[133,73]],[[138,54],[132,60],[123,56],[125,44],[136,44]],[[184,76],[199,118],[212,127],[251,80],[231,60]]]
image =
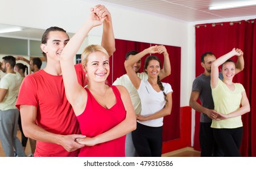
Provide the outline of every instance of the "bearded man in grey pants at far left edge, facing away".
[[19,110],[15,103],[21,86],[21,75],[14,71],[15,57],[2,57],[1,71],[5,73],[0,81],[0,141],[5,156],[25,157],[21,142],[17,137]]

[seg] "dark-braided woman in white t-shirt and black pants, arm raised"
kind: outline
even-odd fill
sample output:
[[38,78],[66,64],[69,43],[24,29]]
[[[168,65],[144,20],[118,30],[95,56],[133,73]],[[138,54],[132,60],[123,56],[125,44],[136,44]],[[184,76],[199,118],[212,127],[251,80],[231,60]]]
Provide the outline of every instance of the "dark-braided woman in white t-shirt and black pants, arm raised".
[[132,140],[138,155],[142,157],[161,156],[163,117],[170,115],[172,110],[172,87],[160,81],[161,63],[158,57],[148,56],[145,61],[144,71],[149,76],[146,81],[133,71],[132,65],[148,53],[169,57],[166,48],[160,45],[144,49],[124,62],[127,75],[141,99],[141,113],[136,115],[137,128],[132,132]]

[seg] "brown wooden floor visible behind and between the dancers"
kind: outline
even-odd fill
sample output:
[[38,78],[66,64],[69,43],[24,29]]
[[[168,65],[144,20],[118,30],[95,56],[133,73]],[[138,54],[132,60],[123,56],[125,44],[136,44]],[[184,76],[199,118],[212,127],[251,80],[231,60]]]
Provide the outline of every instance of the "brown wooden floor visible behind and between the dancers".
[[[18,131],[17,136],[21,139],[21,132]],[[31,149],[29,145],[29,141],[27,142],[27,146],[25,148],[25,154],[30,155]],[[169,153],[165,153],[162,155],[163,157],[200,157],[200,151],[194,150],[192,147],[182,148],[180,150],[175,150]],[[0,157],[5,157],[4,150],[2,150],[2,145],[0,144]]]

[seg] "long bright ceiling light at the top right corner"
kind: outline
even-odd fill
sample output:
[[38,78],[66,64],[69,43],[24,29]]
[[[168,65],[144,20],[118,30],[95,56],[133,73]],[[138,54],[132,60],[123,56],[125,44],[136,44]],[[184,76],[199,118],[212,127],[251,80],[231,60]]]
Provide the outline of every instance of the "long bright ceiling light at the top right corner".
[[238,7],[246,7],[256,5],[256,1],[241,1],[241,2],[230,2],[226,4],[219,4],[219,5],[211,5],[209,10],[223,10],[228,8],[238,8]]

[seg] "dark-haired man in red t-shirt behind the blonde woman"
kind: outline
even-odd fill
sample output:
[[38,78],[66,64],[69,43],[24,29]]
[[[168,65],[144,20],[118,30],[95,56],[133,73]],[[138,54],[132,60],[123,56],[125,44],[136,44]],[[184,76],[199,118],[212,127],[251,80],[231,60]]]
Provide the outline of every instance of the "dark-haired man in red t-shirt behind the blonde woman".
[[[107,17],[101,45],[111,56],[115,51],[111,15],[104,5],[96,5],[92,11],[99,18]],[[80,135],[75,113],[67,101],[59,63],[67,42],[69,36],[62,28],[50,27],[45,31],[41,49],[47,65],[27,75],[19,91],[16,107],[21,112],[24,134],[37,140],[35,156],[77,156],[79,148],[84,147],[75,142],[76,138],[85,136]],[[79,84],[85,86],[87,79],[82,65],[75,65],[75,69]]]

